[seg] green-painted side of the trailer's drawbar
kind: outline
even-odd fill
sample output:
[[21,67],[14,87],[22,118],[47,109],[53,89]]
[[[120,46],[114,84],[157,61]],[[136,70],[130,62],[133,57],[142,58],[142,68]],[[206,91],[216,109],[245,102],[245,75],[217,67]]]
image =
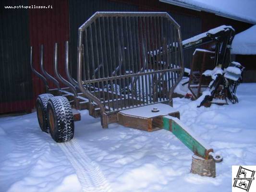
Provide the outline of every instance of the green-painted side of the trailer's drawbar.
[[205,157],[207,149],[173,120],[171,132],[196,155]]

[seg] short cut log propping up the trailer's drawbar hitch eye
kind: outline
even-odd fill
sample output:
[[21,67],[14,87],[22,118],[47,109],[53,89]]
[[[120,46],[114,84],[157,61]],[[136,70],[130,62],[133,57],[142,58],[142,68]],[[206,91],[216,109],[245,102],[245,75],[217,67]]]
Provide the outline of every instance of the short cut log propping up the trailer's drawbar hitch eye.
[[193,155],[190,172],[201,176],[215,177],[215,161],[214,159],[206,160],[199,156]]

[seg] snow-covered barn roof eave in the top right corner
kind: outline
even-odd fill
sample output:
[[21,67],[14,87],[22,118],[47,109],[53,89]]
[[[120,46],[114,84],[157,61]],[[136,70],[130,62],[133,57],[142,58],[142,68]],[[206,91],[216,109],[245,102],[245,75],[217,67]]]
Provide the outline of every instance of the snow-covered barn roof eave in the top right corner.
[[256,0],[159,0],[169,4],[212,12],[216,15],[256,24]]

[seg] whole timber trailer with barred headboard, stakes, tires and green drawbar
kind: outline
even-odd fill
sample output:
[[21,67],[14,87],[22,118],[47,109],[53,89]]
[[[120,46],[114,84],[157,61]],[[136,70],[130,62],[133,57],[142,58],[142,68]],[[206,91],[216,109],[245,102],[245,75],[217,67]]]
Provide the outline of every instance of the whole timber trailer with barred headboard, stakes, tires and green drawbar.
[[[46,85],[37,98],[37,118],[44,132],[56,142],[73,138],[79,110],[100,117],[102,128],[120,123],[144,131],[166,129],[203,159],[221,160],[179,121],[172,93],[183,72],[181,30],[166,12],[96,12],[78,29],[77,80],[70,74],[66,42],[64,79],[58,71],[58,44],[54,49],[54,73],[31,68]],[[154,55],[154,57],[152,57]],[[49,89],[47,80],[56,84]],[[215,167],[214,167],[215,168]]]

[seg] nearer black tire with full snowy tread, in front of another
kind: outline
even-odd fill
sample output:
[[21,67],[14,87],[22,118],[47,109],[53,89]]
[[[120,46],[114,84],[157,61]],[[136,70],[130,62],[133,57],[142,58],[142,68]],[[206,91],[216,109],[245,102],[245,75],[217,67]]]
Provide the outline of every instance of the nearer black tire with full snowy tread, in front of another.
[[47,115],[50,135],[54,141],[62,143],[73,139],[73,113],[66,97],[51,97],[47,104]]

